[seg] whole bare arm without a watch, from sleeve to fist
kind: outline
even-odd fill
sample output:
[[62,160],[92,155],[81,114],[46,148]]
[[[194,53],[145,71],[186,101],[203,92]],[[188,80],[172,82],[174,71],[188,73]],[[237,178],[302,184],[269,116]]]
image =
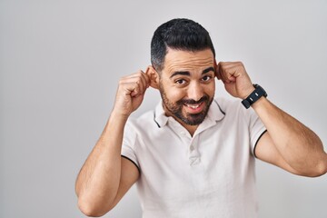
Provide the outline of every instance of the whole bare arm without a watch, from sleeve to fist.
[[113,112],[75,183],[78,205],[86,215],[107,213],[138,179],[138,169],[121,157],[121,149],[124,125],[143,102],[148,83],[143,72],[120,80]]

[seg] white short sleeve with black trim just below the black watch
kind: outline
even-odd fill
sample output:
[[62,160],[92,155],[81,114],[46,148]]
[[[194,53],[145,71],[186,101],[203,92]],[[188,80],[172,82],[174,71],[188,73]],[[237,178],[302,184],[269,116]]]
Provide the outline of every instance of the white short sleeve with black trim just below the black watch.
[[[246,110],[244,108],[244,110]],[[250,131],[250,145],[251,152],[253,155],[255,146],[259,142],[261,136],[267,131],[263,122],[259,118],[259,116],[254,112],[253,108],[250,107],[246,110],[246,116],[248,117],[249,131]]]

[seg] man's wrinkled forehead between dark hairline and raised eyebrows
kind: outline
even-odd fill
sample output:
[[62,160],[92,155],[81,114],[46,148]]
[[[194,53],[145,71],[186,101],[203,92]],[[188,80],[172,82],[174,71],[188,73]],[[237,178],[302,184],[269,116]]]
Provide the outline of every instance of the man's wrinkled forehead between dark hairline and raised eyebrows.
[[205,49],[197,52],[181,51],[168,48],[164,57],[163,71],[172,72],[175,70],[192,70],[213,66],[213,52]]

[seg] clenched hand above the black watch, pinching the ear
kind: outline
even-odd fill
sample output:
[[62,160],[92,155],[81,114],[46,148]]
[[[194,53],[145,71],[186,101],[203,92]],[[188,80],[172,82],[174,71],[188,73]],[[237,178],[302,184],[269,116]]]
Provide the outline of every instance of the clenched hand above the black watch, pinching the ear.
[[234,97],[245,99],[254,90],[242,62],[220,62],[215,75],[223,81],[224,87]]

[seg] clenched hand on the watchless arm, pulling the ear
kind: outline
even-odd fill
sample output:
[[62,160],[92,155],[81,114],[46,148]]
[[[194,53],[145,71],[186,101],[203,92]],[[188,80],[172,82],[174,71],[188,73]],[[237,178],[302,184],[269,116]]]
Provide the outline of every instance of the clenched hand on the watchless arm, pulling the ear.
[[147,74],[139,70],[120,79],[114,103],[114,113],[128,117],[143,102],[150,81]]

